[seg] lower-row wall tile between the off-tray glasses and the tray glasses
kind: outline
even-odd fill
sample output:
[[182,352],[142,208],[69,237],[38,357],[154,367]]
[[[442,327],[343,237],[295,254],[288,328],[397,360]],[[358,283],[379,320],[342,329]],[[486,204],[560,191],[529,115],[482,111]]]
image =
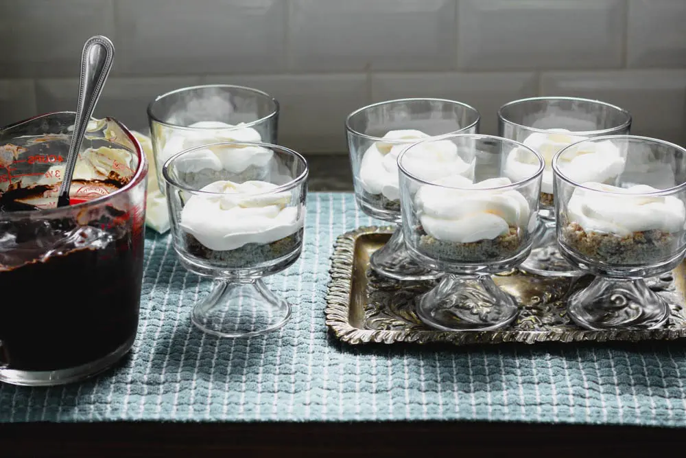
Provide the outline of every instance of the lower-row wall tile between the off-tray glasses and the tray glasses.
[[279,100],[279,144],[298,152],[344,152],[344,122],[369,104],[363,74],[209,76],[205,84],[225,83],[261,89]]

